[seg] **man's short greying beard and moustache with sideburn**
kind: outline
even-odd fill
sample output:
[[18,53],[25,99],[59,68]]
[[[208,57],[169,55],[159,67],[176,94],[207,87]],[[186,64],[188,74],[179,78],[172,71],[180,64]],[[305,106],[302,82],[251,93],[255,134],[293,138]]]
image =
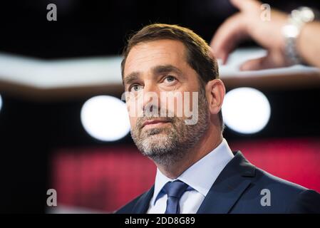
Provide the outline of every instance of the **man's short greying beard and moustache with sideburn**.
[[[208,104],[205,91],[202,88],[196,112],[198,120],[194,125],[187,125],[183,118],[174,116],[161,118],[161,120],[168,122],[164,126],[143,129],[143,123],[154,117],[138,118],[136,125],[131,129],[133,141],[143,155],[150,157],[157,164],[165,166],[175,164],[187,157],[192,147],[200,141],[208,129]],[[192,115],[195,115],[195,112]]]

